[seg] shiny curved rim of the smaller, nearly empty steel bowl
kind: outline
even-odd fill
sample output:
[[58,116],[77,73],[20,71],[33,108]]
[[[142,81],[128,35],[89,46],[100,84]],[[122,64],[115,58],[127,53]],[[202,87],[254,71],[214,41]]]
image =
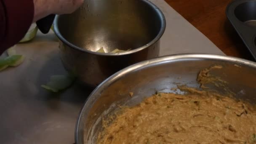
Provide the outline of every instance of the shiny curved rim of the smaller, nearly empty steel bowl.
[[155,43],[157,43],[157,41],[160,40],[160,38],[163,36],[163,34],[165,32],[165,28],[166,28],[165,16],[164,16],[163,12],[160,10],[160,8],[158,8],[154,3],[150,2],[149,0],[141,0],[141,1],[144,2],[146,5],[149,5],[150,7],[155,9],[155,11],[157,12],[157,15],[160,18],[161,28],[160,28],[160,31],[158,32],[158,34],[156,35],[156,37],[153,40],[151,40],[146,45],[143,45],[143,46],[141,46],[139,48],[136,48],[136,49],[133,49],[131,51],[125,51],[125,52],[122,52],[122,53],[99,53],[99,52],[89,51],[89,50],[80,48],[80,47],[70,43],[68,40],[66,40],[61,35],[61,33],[59,31],[58,24],[59,24],[60,15],[56,15],[56,18],[53,21],[54,32],[57,35],[57,37],[59,38],[59,40],[61,40],[61,42],[63,42],[65,45],[68,45],[70,48],[74,48],[75,50],[78,50],[80,52],[91,53],[91,54],[96,54],[96,55],[101,55],[101,56],[122,56],[122,55],[128,55],[128,54],[139,52],[139,51],[141,51],[143,49],[146,49],[146,48],[150,47],[151,45],[154,45]]

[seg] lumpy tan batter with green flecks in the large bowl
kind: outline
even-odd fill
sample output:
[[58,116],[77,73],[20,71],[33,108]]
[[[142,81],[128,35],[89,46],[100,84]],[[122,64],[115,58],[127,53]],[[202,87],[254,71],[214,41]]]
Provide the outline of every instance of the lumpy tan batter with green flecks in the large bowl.
[[215,94],[158,93],[123,108],[97,143],[256,144],[256,109]]

